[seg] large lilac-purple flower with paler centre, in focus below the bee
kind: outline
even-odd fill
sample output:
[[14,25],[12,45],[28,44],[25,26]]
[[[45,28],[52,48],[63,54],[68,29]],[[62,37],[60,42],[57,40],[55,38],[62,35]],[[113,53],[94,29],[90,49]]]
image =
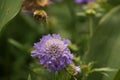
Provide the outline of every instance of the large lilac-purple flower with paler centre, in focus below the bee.
[[38,57],[39,63],[51,72],[66,68],[66,65],[73,64],[73,55],[68,49],[69,40],[62,39],[60,35],[52,34],[43,36],[34,44],[32,57]]

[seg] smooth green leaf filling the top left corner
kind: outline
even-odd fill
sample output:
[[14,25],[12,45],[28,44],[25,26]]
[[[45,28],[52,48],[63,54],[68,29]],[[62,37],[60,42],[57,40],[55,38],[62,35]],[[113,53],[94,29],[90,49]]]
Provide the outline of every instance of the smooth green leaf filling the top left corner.
[[23,0],[0,0],[0,32],[19,12]]

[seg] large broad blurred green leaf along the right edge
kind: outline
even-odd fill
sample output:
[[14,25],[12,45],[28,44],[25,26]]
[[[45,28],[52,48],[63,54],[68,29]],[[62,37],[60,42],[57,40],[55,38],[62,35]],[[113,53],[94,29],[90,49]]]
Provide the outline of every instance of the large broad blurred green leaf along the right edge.
[[[85,61],[95,61],[94,67],[120,67],[120,6],[112,9],[100,21],[91,38]],[[109,72],[109,78],[92,75],[89,80],[112,80],[116,72]]]

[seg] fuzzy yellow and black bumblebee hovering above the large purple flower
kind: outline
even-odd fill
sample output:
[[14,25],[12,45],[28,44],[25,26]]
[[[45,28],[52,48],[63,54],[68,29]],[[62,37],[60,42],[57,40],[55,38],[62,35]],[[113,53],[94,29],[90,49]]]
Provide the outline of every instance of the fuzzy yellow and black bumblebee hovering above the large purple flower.
[[47,22],[47,13],[44,10],[35,10],[33,12],[33,17],[37,20],[37,21],[44,21]]

